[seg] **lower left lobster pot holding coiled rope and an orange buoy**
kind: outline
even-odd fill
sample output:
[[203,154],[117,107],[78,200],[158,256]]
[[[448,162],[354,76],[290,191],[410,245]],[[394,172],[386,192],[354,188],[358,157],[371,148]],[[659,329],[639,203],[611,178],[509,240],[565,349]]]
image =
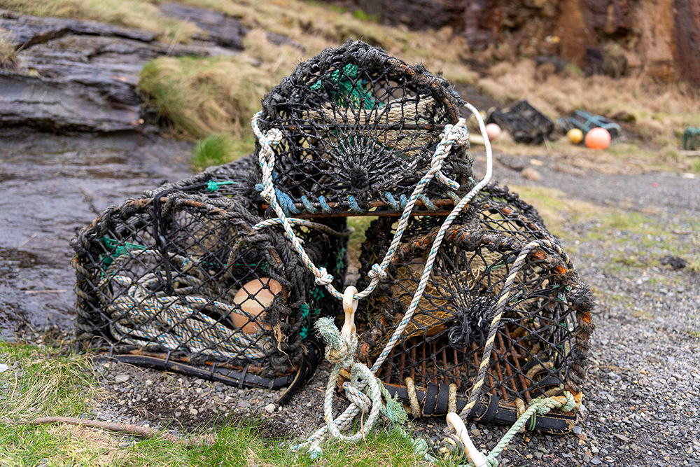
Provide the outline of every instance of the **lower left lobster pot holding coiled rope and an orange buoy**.
[[[253,228],[262,219],[248,202],[192,181],[106,209],[73,239],[78,340],[240,386],[302,382],[318,357],[309,330],[339,312],[337,300],[314,285],[279,226]],[[342,286],[344,220],[318,226],[295,233]]]

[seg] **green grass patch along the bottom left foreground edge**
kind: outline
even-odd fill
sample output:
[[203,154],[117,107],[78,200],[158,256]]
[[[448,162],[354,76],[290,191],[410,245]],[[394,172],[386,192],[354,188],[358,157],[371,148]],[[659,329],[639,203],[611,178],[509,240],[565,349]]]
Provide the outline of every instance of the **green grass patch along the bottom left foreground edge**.
[[356,445],[329,441],[323,456],[290,452],[292,438],[269,437],[274,422],[225,420],[214,444],[187,449],[162,438],[142,440],[122,433],[67,424],[15,424],[37,417],[89,415],[99,389],[85,356],[52,347],[0,342],[1,466],[415,466],[421,463],[398,431],[375,430]]

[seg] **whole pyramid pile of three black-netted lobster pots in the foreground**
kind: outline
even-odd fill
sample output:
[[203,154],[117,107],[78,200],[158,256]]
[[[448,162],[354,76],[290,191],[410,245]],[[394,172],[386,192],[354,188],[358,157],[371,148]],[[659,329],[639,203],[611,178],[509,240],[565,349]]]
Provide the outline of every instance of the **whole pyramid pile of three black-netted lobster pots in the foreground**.
[[[350,296],[351,359],[416,417],[512,423],[542,396],[580,398],[591,293],[532,207],[475,181],[463,106],[444,78],[360,41],[302,62],[263,99],[251,158],[80,232],[80,339],[295,386],[315,366],[314,321]],[[348,216],[374,216],[357,284],[344,284]],[[576,420],[554,410],[533,428]]]

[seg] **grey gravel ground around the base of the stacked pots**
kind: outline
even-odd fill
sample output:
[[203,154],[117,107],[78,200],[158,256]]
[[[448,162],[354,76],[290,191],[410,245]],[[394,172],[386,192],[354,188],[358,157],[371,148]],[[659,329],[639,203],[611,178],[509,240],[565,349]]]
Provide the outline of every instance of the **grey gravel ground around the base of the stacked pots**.
[[[527,183],[517,172],[504,167],[498,170],[507,183]],[[545,176],[552,172],[555,181],[559,173],[546,165],[538,170]],[[617,176],[610,185],[600,180],[608,176],[589,173],[578,177],[577,184],[591,186],[591,177],[598,186],[607,188],[579,190],[579,199],[606,199],[614,204],[629,200],[625,187],[638,187],[647,178],[663,179],[664,175]],[[547,180],[554,183],[552,179]],[[567,183],[566,176],[559,181],[563,184],[556,188],[575,196],[576,184]],[[603,189],[608,193],[602,193]],[[696,185],[686,189],[694,190],[689,196],[697,197]],[[674,190],[667,190],[669,196]],[[692,205],[673,204],[671,199],[655,199],[667,207],[663,214],[657,214],[661,222],[675,224],[680,232],[696,228],[697,204],[694,210]],[[501,464],[700,465],[700,276],[688,268],[658,266],[656,261],[669,248],[696,254],[697,232],[673,236],[670,246],[659,238],[657,246],[648,248],[643,242],[646,236],[629,232],[617,232],[612,239],[590,239],[587,234],[596,231],[594,223],[568,223],[564,229],[563,246],[597,300],[584,421],[573,433],[561,437],[531,432],[517,435],[500,456]],[[624,265],[620,258],[635,260]],[[99,363],[97,369],[109,393],[94,411],[99,419],[167,427],[182,433],[213,429],[227,417],[253,415],[265,420],[265,435],[303,436],[323,423],[323,388],[330,367],[328,363],[321,365],[285,407],[274,406],[277,393],[262,389],[236,389],[122,363]],[[435,446],[444,438],[442,417],[412,423],[415,435]],[[493,424],[471,424],[470,428],[482,450],[496,445],[507,429]]]

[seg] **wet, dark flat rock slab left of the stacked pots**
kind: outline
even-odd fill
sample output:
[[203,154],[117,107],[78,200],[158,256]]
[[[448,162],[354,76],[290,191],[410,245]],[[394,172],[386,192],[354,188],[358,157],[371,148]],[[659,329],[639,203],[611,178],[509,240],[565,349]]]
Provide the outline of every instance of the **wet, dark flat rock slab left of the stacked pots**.
[[156,134],[0,132],[0,338],[72,325],[69,241],[99,211],[190,175],[190,144]]

